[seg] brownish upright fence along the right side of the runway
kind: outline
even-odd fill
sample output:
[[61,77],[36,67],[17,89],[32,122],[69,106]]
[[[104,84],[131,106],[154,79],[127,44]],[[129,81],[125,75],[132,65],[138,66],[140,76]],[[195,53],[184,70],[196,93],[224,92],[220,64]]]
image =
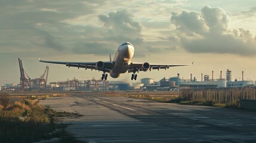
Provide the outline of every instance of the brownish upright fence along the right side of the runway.
[[240,99],[255,100],[256,88],[181,89],[179,98],[187,101],[213,101],[238,105]]

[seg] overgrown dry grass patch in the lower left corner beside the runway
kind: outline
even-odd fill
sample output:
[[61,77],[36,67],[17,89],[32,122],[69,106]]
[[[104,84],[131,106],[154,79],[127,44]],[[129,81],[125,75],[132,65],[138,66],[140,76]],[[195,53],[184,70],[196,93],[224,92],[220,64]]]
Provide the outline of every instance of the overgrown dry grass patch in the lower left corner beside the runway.
[[54,123],[59,114],[50,107],[38,105],[37,99],[11,102],[0,109],[0,142],[37,142],[53,138],[57,139],[51,142],[80,142],[64,130],[67,125]]

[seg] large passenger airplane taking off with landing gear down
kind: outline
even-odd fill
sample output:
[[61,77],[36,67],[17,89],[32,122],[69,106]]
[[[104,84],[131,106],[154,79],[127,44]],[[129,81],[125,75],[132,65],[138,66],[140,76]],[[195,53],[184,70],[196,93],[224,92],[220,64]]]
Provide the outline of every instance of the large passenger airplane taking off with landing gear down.
[[78,67],[103,71],[101,80],[107,80],[107,74],[109,73],[111,77],[118,78],[122,73],[132,73],[131,80],[137,79],[137,74],[139,71],[151,71],[151,70],[160,70],[160,69],[169,69],[169,67],[177,66],[191,66],[192,64],[149,64],[145,63],[135,63],[131,61],[131,58],[134,55],[134,46],[129,42],[121,43],[116,51],[115,57],[111,58],[109,55],[109,61],[97,61],[97,62],[69,62],[69,61],[45,61],[39,58],[40,62],[43,63],[52,63],[52,64],[65,64],[68,67]]

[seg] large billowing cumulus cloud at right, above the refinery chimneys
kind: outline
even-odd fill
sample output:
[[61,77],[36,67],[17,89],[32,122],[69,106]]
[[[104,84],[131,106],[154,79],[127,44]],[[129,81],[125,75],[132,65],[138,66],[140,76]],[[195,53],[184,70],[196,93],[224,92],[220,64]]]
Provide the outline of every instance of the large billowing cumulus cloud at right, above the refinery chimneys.
[[230,28],[229,15],[221,8],[205,6],[201,14],[195,11],[172,13],[171,23],[181,46],[189,52],[256,54],[255,36],[249,30]]

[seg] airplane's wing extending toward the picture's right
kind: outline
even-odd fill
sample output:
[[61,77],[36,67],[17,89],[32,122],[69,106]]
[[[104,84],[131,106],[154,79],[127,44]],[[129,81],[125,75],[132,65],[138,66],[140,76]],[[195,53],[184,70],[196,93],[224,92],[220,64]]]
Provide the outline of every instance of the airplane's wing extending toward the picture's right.
[[[132,72],[138,72],[138,71],[143,71],[141,69],[142,65],[144,63],[131,63],[131,66],[129,67],[128,73],[132,73]],[[150,64],[149,70],[160,70],[160,69],[169,69],[169,67],[178,67],[178,66],[192,66],[194,64],[194,62],[192,64]]]

